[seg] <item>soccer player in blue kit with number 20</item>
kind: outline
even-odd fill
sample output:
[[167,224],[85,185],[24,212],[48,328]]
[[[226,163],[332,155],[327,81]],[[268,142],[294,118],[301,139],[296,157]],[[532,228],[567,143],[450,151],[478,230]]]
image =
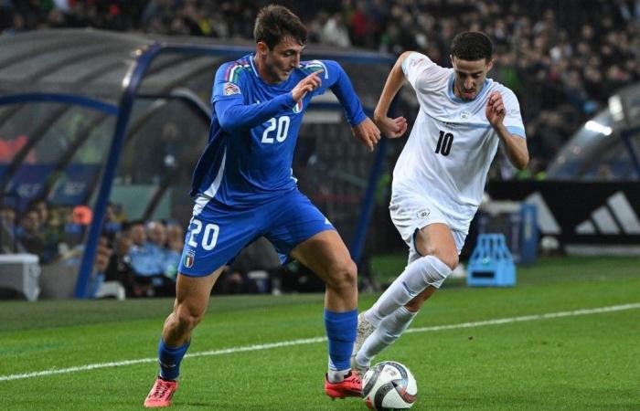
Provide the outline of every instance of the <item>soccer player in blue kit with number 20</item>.
[[280,5],[263,7],[255,54],[224,63],[213,85],[209,141],[194,172],[195,198],[176,283],[174,309],[158,347],[160,374],[144,406],[170,406],[191,332],[207,310],[222,268],[257,237],[281,260],[295,258],[326,283],[329,364],[325,393],[361,395],[351,373],[357,327],[357,268],[329,220],[302,195],[292,174],[293,149],[312,97],[330,89],[355,137],[373,149],[368,119],[347,74],[335,61],[300,61],[306,28]]

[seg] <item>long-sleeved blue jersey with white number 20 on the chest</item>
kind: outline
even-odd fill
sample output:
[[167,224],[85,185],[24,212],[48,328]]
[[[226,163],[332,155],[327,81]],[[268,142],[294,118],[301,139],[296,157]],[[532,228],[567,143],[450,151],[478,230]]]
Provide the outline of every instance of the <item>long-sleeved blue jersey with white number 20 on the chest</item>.
[[[309,74],[322,85],[297,104],[292,90]],[[197,163],[191,195],[231,206],[250,206],[292,191],[293,150],[313,96],[331,89],[352,126],[366,119],[344,69],[335,61],[303,61],[289,79],[264,82],[253,55],[222,64],[216,73],[208,145]]]

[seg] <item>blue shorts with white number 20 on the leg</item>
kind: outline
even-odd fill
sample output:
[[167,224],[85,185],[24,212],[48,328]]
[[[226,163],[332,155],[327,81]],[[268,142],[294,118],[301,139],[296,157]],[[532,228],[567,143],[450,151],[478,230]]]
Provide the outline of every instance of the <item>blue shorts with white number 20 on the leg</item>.
[[266,237],[285,262],[291,250],[315,234],[334,230],[329,220],[297,190],[251,208],[235,208],[198,197],[178,272],[205,277],[227,265],[242,248]]

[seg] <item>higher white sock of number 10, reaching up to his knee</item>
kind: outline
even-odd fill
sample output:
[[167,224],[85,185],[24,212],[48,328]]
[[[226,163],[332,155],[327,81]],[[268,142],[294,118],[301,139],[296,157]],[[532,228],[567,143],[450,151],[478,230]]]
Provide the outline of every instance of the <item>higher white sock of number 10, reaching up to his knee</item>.
[[416,259],[365,312],[365,318],[378,327],[382,319],[413,300],[427,286],[439,289],[449,274],[451,269],[439,258],[424,256]]

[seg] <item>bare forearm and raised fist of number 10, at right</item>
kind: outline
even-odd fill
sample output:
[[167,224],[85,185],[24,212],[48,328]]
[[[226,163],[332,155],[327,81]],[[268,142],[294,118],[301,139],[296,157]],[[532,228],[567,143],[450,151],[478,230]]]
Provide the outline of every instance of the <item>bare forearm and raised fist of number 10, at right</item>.
[[486,100],[485,115],[491,127],[496,130],[500,140],[504,142],[505,152],[509,161],[518,169],[524,170],[528,164],[527,139],[519,135],[511,134],[505,127],[504,120],[507,114],[502,95],[493,91]]

